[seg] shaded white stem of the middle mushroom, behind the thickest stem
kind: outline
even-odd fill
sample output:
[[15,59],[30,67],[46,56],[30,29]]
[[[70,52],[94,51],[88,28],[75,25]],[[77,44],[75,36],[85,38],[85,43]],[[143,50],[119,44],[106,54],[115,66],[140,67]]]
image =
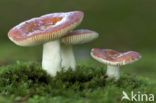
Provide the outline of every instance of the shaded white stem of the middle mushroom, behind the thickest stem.
[[68,70],[71,68],[72,70],[76,69],[76,61],[73,53],[73,49],[71,45],[61,45],[61,56],[62,56],[62,68],[64,70]]

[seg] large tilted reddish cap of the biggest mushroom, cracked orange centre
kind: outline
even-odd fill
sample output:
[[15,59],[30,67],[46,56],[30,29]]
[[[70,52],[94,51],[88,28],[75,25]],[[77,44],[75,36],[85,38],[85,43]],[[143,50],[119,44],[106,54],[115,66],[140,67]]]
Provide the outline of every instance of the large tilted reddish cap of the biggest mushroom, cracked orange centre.
[[8,37],[20,46],[32,46],[56,40],[78,26],[83,12],[60,12],[32,18],[13,27]]

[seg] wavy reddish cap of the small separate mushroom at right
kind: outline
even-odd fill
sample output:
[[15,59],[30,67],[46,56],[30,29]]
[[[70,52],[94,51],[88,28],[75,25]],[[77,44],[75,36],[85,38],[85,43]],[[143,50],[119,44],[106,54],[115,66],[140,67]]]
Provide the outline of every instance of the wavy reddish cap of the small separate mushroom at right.
[[134,51],[120,53],[112,49],[97,48],[91,50],[91,56],[97,61],[109,65],[125,65],[141,58],[141,55]]

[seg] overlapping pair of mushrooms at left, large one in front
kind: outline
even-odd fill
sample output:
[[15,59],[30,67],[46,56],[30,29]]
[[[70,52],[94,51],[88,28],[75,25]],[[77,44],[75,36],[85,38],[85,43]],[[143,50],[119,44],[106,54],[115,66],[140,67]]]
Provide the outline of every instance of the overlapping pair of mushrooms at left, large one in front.
[[73,31],[83,16],[81,11],[46,14],[13,27],[8,37],[19,46],[43,44],[42,68],[55,76],[62,67],[76,69],[72,45],[87,43],[98,37],[98,33],[91,30]]

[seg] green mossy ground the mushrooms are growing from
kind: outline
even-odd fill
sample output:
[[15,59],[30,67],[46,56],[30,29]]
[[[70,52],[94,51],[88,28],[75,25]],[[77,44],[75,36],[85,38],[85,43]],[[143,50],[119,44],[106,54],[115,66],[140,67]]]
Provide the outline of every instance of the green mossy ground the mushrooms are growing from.
[[114,82],[104,74],[102,66],[81,64],[51,78],[37,62],[17,62],[0,67],[0,103],[120,103],[123,90],[156,95],[149,79],[121,73]]

